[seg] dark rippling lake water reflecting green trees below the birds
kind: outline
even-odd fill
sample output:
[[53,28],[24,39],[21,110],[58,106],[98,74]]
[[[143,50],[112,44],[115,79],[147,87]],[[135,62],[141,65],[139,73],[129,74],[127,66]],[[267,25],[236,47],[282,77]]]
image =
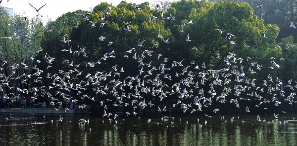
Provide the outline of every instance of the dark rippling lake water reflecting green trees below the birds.
[[[240,115],[239,119],[237,115],[225,115],[227,122],[221,120],[221,116],[116,118],[115,124],[115,120],[110,123],[108,118],[88,114],[3,113],[0,117],[0,145],[297,146],[294,116],[279,115],[276,121],[273,115],[262,115],[261,119],[266,122],[256,121],[257,115]],[[89,119],[89,123],[79,125],[83,118]],[[274,121],[267,122],[270,120]],[[284,124],[284,120],[288,122]]]

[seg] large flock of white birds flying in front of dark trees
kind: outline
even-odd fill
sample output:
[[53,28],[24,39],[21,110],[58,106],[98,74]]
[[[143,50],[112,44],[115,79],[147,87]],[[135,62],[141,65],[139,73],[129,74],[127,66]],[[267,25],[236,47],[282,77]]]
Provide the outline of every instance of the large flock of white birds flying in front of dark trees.
[[[39,12],[42,7],[35,9]],[[162,5],[158,4],[157,8],[162,9]],[[108,10],[112,11],[111,7],[108,7]],[[135,10],[140,11],[141,8],[137,6]],[[90,13],[84,12],[83,14],[77,15],[80,15],[82,19],[89,20],[88,15],[90,15]],[[100,18],[101,23],[99,26],[102,28],[106,25],[103,21],[107,15],[110,15],[110,13],[104,12],[103,17]],[[157,19],[157,17],[151,16],[148,21],[151,22],[153,19]],[[174,21],[175,15],[170,14],[170,17],[162,19]],[[65,23],[65,20],[63,23]],[[123,27],[123,30],[130,32],[130,25],[131,22],[127,23]],[[193,22],[190,21],[188,24],[182,24],[182,26],[186,25],[193,25]],[[96,27],[96,22],[92,22],[91,26],[92,28]],[[77,28],[79,25],[75,27]],[[293,22],[291,23],[291,27],[295,28]],[[221,30],[216,30],[220,32],[220,35],[222,35]],[[184,33],[183,29],[180,32]],[[265,37],[265,32],[262,33],[262,37]],[[71,40],[66,37],[67,34],[61,37],[61,43],[68,43],[70,45]],[[165,43],[169,43],[169,39],[164,39],[162,36],[156,37],[159,37]],[[235,44],[234,41],[231,41],[232,37],[234,37],[234,35],[227,33],[225,41],[230,41],[229,43],[231,45]],[[12,37],[3,38],[12,39]],[[98,39],[99,43],[104,43],[106,38],[101,36]],[[185,43],[190,41],[189,34],[185,39]],[[110,40],[108,42],[108,46],[112,44],[113,42]],[[143,48],[150,47],[145,47],[145,40],[139,40],[135,45],[138,46],[138,48],[127,48],[127,51],[124,52],[124,56],[116,56],[118,53],[117,50],[112,50],[110,52],[106,52],[98,62],[87,62],[85,64],[86,67],[96,68],[96,66],[103,66],[104,62],[107,62],[108,60],[113,60],[117,57],[124,57],[125,59],[132,59],[135,61],[135,66],[138,69],[136,72],[139,72],[135,76],[120,78],[120,74],[123,72],[132,73],[135,71],[124,71],[124,68],[119,67],[118,65],[114,65],[112,67],[105,66],[105,71],[97,71],[94,74],[83,73],[84,71],[79,70],[79,67],[82,65],[81,63],[75,64],[76,61],[67,59],[63,61],[63,64],[68,67],[68,71],[59,70],[58,73],[51,73],[50,68],[55,63],[55,58],[50,57],[48,53],[45,53],[45,62],[48,67],[46,71],[42,71],[38,68],[42,61],[35,59],[33,54],[30,58],[28,58],[28,60],[35,62],[35,65],[32,68],[34,72],[32,74],[23,73],[16,76],[15,70],[20,68],[27,70],[29,67],[25,63],[26,60],[22,61],[20,64],[14,63],[11,66],[12,72],[8,76],[5,76],[4,73],[0,74],[0,91],[3,92],[3,87],[5,86],[9,87],[10,82],[13,80],[21,80],[22,83],[26,83],[27,80],[31,79],[35,82],[35,87],[32,86],[32,90],[16,87],[17,92],[32,92],[34,95],[32,97],[33,100],[37,99],[39,95],[52,99],[52,102],[43,106],[58,105],[58,103],[61,102],[55,98],[58,96],[62,96],[64,99],[75,103],[78,101],[77,98],[66,97],[67,93],[75,93],[76,95],[72,96],[79,97],[82,101],[91,100],[93,102],[100,103],[103,111],[102,117],[109,117],[110,121],[114,120],[118,116],[118,114],[113,114],[112,111],[109,111],[111,107],[127,109],[125,110],[125,114],[129,117],[132,115],[138,116],[138,111],[145,109],[156,110],[156,112],[166,112],[167,109],[176,108],[181,109],[184,113],[203,112],[206,108],[213,108],[212,102],[221,104],[226,102],[233,103],[236,108],[245,109],[246,112],[249,112],[249,107],[240,107],[242,101],[254,100],[253,103],[256,104],[253,106],[259,110],[267,109],[267,104],[279,106],[280,104],[293,105],[296,103],[296,101],[294,101],[294,96],[296,95],[295,88],[297,88],[297,82],[295,82],[294,85],[292,79],[286,81],[286,90],[289,92],[286,97],[285,91],[281,90],[283,81],[278,77],[268,74],[267,78],[264,80],[249,78],[248,74],[260,72],[262,68],[262,66],[252,60],[252,58],[240,58],[234,52],[229,52],[227,56],[220,56],[220,54],[217,54],[215,58],[218,61],[225,62],[226,66],[224,68],[215,69],[215,66],[212,64],[207,65],[203,63],[198,65],[195,61],[191,61],[190,64],[183,64],[183,60],[169,59],[165,56],[162,58],[162,55],[158,54],[158,59],[162,60],[162,63],[159,64],[158,67],[155,67],[151,65],[152,62],[147,61],[155,51],[144,49],[142,53],[138,54],[136,51],[137,49],[141,50]],[[158,44],[153,44],[151,49],[157,49],[157,47]],[[87,57],[86,49],[88,48],[79,47],[78,50],[73,51],[70,47],[69,50],[63,49],[60,51],[77,56],[84,54],[84,57]],[[191,50],[195,49],[196,48],[193,47]],[[39,48],[36,54],[42,51],[43,49]],[[169,62],[170,60],[171,62]],[[281,59],[279,62],[281,61],[284,61],[284,59]],[[280,65],[277,62],[278,61],[272,57],[271,66],[269,68],[280,68]],[[6,62],[2,60],[2,66],[5,63]],[[243,66],[244,64],[249,64],[250,66]],[[173,73],[171,71],[173,69],[178,69],[179,71]],[[82,74],[86,74],[85,80],[81,80],[77,84],[73,84],[73,82],[71,82],[73,78],[77,78]],[[50,80],[51,83],[49,86],[43,85],[45,79]],[[172,83],[173,80],[178,80],[178,82]],[[36,85],[42,86],[36,87]],[[47,92],[47,88],[53,88],[56,92]],[[94,93],[99,96],[94,96]],[[9,94],[11,94],[11,96],[17,96],[13,95],[13,93]],[[159,101],[174,99],[176,103],[160,107],[156,105],[158,102],[146,99],[146,97],[154,97]],[[12,101],[9,97],[5,98]],[[284,99],[284,101],[280,101],[279,98]],[[112,103],[112,105],[107,105],[107,103]],[[86,105],[80,106],[82,109],[85,107]],[[213,114],[216,114],[220,110],[223,109],[213,109]],[[205,115],[211,117],[211,115],[207,114]]]

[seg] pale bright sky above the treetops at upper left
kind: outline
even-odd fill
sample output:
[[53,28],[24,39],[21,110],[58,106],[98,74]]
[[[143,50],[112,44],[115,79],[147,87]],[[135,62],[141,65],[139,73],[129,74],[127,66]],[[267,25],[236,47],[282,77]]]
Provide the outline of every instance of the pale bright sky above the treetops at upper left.
[[[1,6],[13,8],[15,14],[28,16],[30,19],[32,16],[39,14],[35,11],[33,7],[29,5],[29,2],[35,8],[40,8],[40,15],[43,15],[43,21],[50,19],[54,21],[57,17],[64,13],[72,12],[78,9],[81,10],[92,10],[94,6],[101,2],[107,1],[112,2],[113,5],[117,5],[121,0],[2,0]],[[132,2],[140,4],[142,2],[155,1],[155,0],[126,0],[127,2]]]

